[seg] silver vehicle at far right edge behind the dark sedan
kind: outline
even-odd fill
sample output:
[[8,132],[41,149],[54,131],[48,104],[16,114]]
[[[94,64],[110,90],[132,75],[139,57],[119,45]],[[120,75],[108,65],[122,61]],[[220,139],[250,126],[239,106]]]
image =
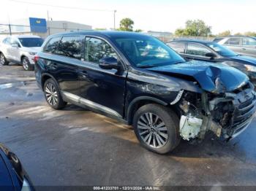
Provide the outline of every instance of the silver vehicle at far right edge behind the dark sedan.
[[230,50],[241,54],[256,57],[256,39],[249,36],[217,37],[214,42],[228,47]]

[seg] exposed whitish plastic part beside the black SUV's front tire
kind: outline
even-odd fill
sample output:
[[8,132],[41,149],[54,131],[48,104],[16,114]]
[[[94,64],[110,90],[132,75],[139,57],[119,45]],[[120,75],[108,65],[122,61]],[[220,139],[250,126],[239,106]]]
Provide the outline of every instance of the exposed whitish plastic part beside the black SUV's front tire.
[[195,139],[200,133],[203,120],[192,116],[181,116],[180,135],[184,140]]

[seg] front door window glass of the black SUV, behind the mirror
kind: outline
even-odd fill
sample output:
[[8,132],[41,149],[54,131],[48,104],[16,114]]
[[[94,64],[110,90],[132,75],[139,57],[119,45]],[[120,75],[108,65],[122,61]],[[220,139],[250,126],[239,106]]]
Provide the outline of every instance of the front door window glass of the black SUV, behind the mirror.
[[85,61],[99,63],[99,60],[105,57],[117,58],[115,50],[102,39],[86,37]]

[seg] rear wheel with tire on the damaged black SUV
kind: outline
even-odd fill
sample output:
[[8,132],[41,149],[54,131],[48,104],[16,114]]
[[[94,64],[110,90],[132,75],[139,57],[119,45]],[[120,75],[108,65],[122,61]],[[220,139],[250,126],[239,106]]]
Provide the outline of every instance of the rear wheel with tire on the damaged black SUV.
[[63,101],[59,86],[53,79],[47,79],[44,84],[45,100],[53,109],[63,109],[67,102]]

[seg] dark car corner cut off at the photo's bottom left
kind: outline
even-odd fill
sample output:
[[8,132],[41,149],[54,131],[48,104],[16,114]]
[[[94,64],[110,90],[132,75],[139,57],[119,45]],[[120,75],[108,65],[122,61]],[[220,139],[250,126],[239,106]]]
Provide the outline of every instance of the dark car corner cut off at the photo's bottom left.
[[0,143],[0,190],[32,191],[33,185],[18,157]]

